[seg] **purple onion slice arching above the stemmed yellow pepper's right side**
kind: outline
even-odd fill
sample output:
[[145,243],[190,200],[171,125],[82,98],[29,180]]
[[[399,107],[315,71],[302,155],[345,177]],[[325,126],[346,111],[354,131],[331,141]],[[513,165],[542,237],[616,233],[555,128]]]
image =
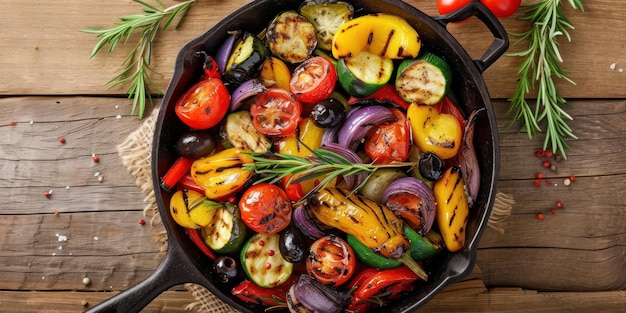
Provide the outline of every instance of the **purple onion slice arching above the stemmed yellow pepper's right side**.
[[384,204],[394,195],[408,193],[420,198],[420,208],[417,214],[420,217],[421,229],[416,229],[420,235],[430,231],[435,221],[435,195],[428,185],[415,177],[404,177],[393,181],[383,192]]

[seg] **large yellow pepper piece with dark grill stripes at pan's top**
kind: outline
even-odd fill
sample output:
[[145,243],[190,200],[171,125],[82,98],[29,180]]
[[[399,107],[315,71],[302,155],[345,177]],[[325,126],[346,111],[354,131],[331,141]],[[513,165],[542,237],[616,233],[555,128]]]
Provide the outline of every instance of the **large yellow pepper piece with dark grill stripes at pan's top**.
[[417,31],[403,18],[391,14],[370,14],[354,18],[339,27],[333,38],[333,57],[351,58],[361,51],[388,59],[415,58],[421,48]]

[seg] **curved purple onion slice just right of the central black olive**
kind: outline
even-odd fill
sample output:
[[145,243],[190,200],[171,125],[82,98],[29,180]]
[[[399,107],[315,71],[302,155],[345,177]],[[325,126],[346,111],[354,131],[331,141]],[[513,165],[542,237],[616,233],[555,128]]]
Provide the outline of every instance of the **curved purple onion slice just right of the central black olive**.
[[395,120],[393,113],[382,105],[370,105],[353,110],[354,112],[346,117],[338,134],[339,144],[353,151],[374,126]]

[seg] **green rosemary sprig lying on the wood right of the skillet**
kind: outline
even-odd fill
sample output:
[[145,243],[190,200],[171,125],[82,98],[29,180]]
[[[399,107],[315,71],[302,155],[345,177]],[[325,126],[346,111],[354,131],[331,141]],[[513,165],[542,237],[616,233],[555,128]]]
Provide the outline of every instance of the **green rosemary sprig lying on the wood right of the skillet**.
[[[584,11],[582,0],[568,1],[574,9]],[[520,19],[530,22],[531,28],[520,34],[512,34],[519,37],[514,45],[528,41],[528,48],[510,54],[523,57],[524,61],[517,72],[520,78],[513,97],[509,99],[508,113],[514,112],[509,126],[520,121],[521,128],[530,139],[535,137],[537,131],[541,131],[539,124],[545,119],[547,127],[543,148],[551,148],[567,158],[565,150],[570,149],[567,140],[577,137],[567,124],[573,118],[563,108],[569,104],[559,95],[553,79],[556,77],[576,84],[565,76],[566,70],[561,68],[563,59],[558,43],[559,36],[565,36],[571,41],[568,30],[574,29],[574,26],[563,14],[561,6],[562,0],[541,0],[524,6],[525,13]],[[535,88],[537,100],[533,109],[526,95]]]

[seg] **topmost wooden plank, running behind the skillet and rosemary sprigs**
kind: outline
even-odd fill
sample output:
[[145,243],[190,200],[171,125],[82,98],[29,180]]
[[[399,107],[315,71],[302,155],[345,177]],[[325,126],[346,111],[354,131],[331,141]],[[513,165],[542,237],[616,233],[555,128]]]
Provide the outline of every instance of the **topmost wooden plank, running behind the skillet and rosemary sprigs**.
[[[522,3],[534,1],[524,0]],[[161,89],[167,87],[175,57],[185,43],[248,2],[207,0],[194,4],[179,30],[168,30],[155,42],[152,65],[157,73],[153,76],[157,85]],[[431,16],[437,15],[434,1],[407,2]],[[626,26],[619,18],[626,15],[626,7],[614,5],[611,0],[584,5],[585,12],[581,13],[564,4],[565,14],[576,29],[571,31],[571,43],[565,38],[560,40],[565,60],[562,66],[573,71],[568,76],[577,85],[558,81],[557,86],[566,98],[623,98],[626,96],[626,90],[622,88],[626,73],[619,69],[626,67],[626,60],[621,45],[617,43],[626,41],[626,32],[620,31]],[[0,76],[1,95],[126,93],[128,86],[109,89],[106,84],[119,73],[130,45],[119,46],[109,57],[101,54],[90,60],[96,38],[81,33],[80,29],[112,27],[119,16],[140,12],[139,5],[131,1],[92,3],[71,0],[58,6],[42,0],[1,0],[0,6],[4,8],[2,14],[7,17],[0,19],[3,29],[0,68],[7,73]],[[517,19],[521,14],[518,12],[502,20],[509,32],[521,32],[528,27]],[[607,31],[609,29],[616,31]],[[479,58],[492,40],[484,25],[475,20],[449,25],[448,30],[473,58]],[[601,55],[598,47],[601,47]],[[521,48],[512,47],[510,51]],[[484,77],[493,98],[512,96],[520,62],[519,58],[504,56],[487,69]],[[610,68],[611,64],[616,64],[615,70]]]

